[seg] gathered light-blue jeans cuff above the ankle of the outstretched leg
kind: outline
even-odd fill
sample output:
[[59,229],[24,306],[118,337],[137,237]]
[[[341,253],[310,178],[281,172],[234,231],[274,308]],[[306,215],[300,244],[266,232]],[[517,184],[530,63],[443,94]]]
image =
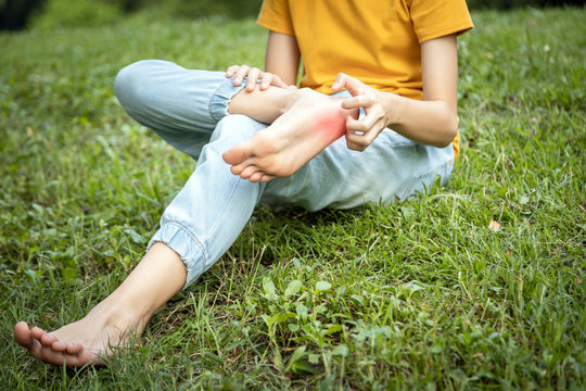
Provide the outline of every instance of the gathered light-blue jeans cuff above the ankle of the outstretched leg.
[[202,243],[181,224],[167,222],[161,226],[149,242],[146,251],[156,242],[167,244],[183,261],[187,279],[182,289],[186,289],[211,266]]

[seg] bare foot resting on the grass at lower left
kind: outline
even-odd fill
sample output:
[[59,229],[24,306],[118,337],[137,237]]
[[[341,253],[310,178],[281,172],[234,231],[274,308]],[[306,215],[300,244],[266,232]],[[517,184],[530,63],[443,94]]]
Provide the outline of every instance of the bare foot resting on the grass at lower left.
[[44,363],[81,367],[102,365],[102,358],[112,355],[113,346],[126,346],[131,333],[140,332],[142,328],[128,314],[116,316],[102,303],[81,320],[52,332],[18,321],[14,340]]

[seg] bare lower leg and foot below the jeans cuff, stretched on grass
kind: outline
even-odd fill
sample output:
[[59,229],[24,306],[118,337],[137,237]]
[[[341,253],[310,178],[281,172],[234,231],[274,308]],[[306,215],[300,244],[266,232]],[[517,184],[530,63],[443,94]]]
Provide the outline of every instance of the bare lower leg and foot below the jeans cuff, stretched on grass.
[[186,283],[186,266],[170,248],[155,243],[126,280],[82,319],[47,332],[14,326],[14,339],[49,364],[80,367],[100,365],[112,346],[127,346],[140,338],[153,314]]

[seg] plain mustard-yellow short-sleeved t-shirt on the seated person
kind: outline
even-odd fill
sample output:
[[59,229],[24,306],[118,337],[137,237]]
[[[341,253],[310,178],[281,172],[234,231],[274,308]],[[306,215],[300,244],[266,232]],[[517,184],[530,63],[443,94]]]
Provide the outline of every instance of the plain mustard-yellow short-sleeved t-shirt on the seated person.
[[[331,93],[343,72],[418,100],[423,99],[420,43],[473,27],[464,0],[265,0],[258,24],[297,39],[302,87]],[[458,141],[457,136],[456,154]]]

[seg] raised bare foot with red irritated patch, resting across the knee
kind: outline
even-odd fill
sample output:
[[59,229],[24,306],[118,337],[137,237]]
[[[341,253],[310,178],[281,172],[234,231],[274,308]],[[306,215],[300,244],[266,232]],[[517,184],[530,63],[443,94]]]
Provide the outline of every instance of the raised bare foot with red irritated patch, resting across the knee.
[[311,90],[300,96],[272,125],[224,153],[232,174],[251,181],[291,176],[346,134],[348,116],[358,117],[358,109],[342,109],[343,98]]

